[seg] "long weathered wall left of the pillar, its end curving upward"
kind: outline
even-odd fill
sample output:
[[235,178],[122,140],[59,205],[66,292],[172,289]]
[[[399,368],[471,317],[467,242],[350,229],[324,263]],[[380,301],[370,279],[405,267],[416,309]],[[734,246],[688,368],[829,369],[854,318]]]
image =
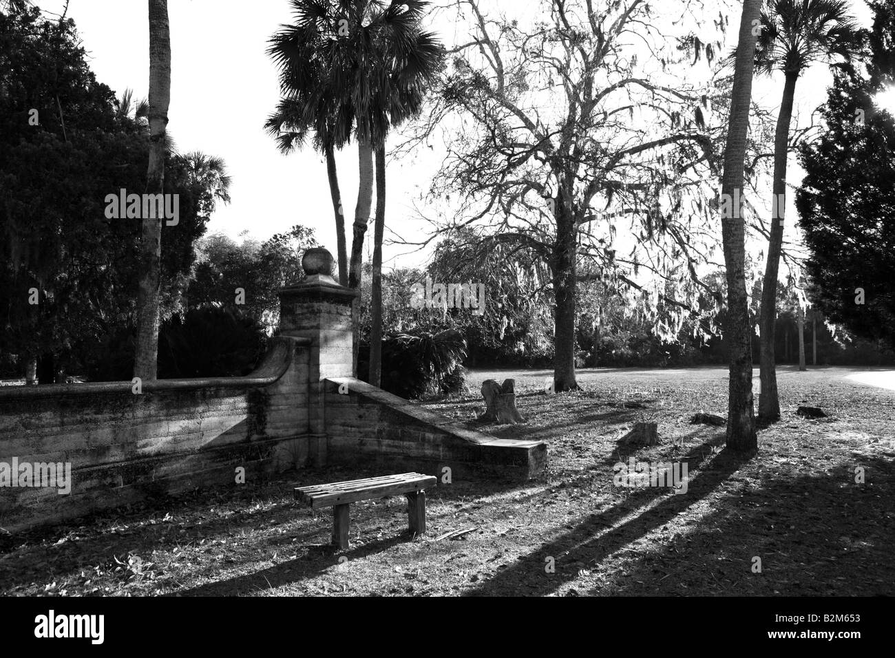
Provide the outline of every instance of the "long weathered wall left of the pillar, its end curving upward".
[[0,389],[0,463],[71,465],[71,491],[0,486],[15,531],[142,500],[234,483],[310,459],[310,341],[274,338],[247,377]]

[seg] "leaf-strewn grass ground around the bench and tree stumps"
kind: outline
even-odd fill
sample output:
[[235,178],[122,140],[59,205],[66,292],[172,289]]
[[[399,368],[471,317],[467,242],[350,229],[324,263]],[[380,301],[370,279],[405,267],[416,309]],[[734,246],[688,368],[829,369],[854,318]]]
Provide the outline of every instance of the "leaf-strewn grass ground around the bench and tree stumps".
[[[756,456],[736,457],[723,428],[688,423],[725,414],[726,369],[581,371],[584,390],[563,395],[543,392],[548,371],[473,372],[469,395],[427,406],[547,441],[543,481],[440,485],[416,538],[403,534],[403,498],[355,503],[341,553],[315,546],[328,543],[330,510],[298,508],[292,488],[381,472],[302,471],[148,500],[0,531],[0,594],[895,594],[895,372],[778,376],[783,418],[759,433]],[[528,423],[482,427],[482,380],[507,377]],[[803,419],[799,404],[830,417]],[[626,442],[641,420],[659,423],[659,445]],[[613,465],[628,457],[686,462],[686,493],[616,486]]]

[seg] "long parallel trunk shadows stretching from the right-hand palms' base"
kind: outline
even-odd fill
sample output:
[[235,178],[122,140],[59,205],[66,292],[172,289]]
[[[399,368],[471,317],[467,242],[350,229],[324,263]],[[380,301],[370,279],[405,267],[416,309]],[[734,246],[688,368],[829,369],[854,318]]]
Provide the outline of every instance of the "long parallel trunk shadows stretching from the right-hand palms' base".
[[[640,490],[638,495],[630,499],[635,500],[638,508],[642,508],[636,517],[623,520],[635,511],[627,504],[627,500],[605,511],[592,514],[567,533],[550,543],[545,543],[540,550],[524,556],[515,565],[482,581],[481,585],[477,585],[465,595],[550,594],[560,585],[574,580],[579,568],[584,565],[603,560],[655,528],[664,526],[686,508],[711,494],[751,457],[731,453],[725,449],[716,457],[704,460],[705,464],[700,464],[705,450],[711,449],[718,440],[719,437],[707,440],[702,445],[690,449],[681,458],[681,461],[696,462],[701,466],[698,475],[689,480],[686,493],[666,494],[664,489],[658,488]],[[648,507],[660,498],[662,500]],[[607,528],[610,529],[607,531]],[[550,566],[551,559],[555,567],[553,572],[545,568]]]

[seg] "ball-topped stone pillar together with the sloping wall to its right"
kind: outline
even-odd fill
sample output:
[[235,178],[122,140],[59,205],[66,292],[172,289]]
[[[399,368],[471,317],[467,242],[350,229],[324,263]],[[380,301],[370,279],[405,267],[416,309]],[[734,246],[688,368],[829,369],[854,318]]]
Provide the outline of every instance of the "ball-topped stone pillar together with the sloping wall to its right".
[[319,267],[309,269],[303,262],[308,278],[280,292],[283,334],[311,340],[309,394],[315,463],[375,466],[380,474],[440,475],[447,466],[452,477],[498,475],[516,480],[543,472],[547,447],[542,441],[499,440],[471,432],[354,379],[351,307],[355,294],[330,276],[332,256],[325,250],[311,250],[315,251],[313,260],[319,261]]

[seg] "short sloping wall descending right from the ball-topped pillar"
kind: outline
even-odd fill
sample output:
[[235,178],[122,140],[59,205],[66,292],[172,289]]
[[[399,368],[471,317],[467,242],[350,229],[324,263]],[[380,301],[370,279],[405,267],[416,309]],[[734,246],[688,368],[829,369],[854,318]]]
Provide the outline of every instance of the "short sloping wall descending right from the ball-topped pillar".
[[[339,389],[345,391],[340,393]],[[452,478],[543,474],[543,441],[497,439],[473,432],[401,397],[349,377],[325,382],[330,464],[378,463],[388,472],[416,470]]]

